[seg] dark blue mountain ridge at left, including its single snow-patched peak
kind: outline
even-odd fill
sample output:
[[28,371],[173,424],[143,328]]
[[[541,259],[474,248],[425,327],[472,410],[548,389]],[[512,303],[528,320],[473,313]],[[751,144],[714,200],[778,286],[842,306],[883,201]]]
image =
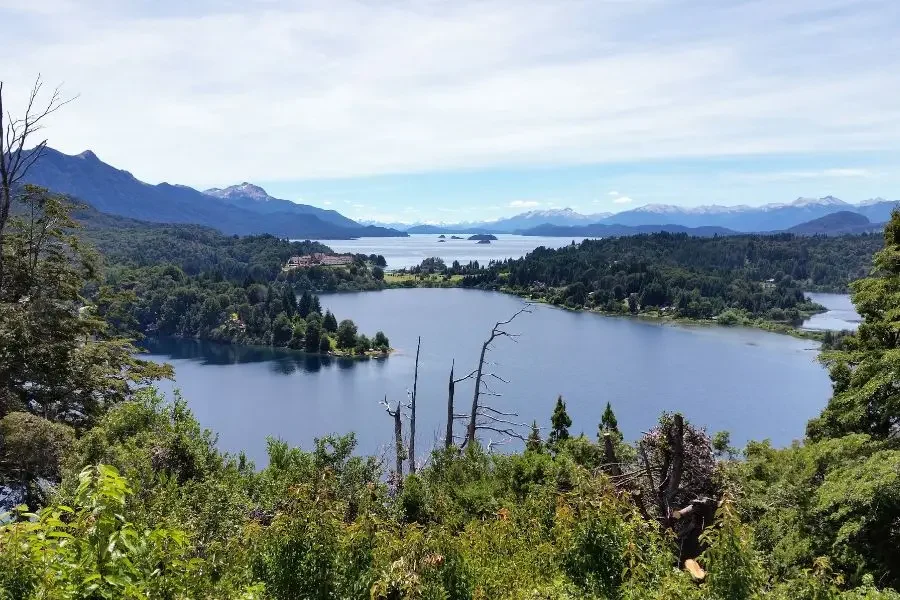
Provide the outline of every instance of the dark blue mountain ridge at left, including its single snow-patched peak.
[[169,183],[151,185],[89,150],[71,156],[47,148],[28,171],[26,182],[75,197],[104,213],[157,223],[195,223],[227,234],[270,233],[294,239],[407,235],[361,225],[333,210],[273,198],[248,183],[207,192]]

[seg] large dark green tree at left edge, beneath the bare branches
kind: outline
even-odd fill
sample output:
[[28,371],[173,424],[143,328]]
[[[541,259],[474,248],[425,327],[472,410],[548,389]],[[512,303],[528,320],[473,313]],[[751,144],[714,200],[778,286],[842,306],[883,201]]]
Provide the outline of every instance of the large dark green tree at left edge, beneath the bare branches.
[[27,410],[89,425],[171,368],[135,358],[131,341],[82,297],[98,265],[73,233],[72,205],[30,185],[21,201],[22,213],[0,234],[0,417]]

